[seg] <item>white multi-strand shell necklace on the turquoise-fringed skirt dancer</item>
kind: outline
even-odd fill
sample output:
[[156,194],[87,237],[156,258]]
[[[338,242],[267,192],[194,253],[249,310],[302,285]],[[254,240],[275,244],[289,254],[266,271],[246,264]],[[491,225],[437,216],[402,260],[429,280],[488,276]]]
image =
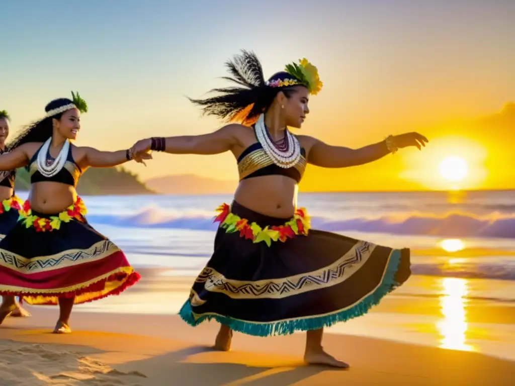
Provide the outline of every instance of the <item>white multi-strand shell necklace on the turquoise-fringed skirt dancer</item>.
[[259,143],[263,146],[263,149],[268,154],[274,164],[284,169],[295,166],[300,159],[300,144],[294,135],[291,135],[288,130],[285,130],[286,141],[289,143],[286,151],[279,150],[271,141],[268,136],[267,128],[265,125],[265,114],[261,114],[258,121],[255,124],[256,138]]

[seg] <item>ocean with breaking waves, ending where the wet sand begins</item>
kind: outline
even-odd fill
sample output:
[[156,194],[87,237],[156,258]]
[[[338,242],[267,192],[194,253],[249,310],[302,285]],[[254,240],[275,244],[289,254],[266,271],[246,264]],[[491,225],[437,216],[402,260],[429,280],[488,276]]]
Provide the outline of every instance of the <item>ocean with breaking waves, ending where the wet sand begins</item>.
[[[134,266],[176,275],[203,267],[215,209],[231,202],[230,195],[82,198],[88,220]],[[411,248],[414,274],[515,280],[515,191],[300,194],[299,206],[314,228]]]

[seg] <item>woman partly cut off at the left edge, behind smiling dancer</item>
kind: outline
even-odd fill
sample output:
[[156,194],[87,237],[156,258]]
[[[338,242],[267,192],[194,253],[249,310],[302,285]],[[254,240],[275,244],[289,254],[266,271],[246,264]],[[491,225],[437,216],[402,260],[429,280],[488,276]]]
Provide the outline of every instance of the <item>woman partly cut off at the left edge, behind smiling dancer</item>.
[[[9,121],[11,118],[7,111],[0,111],[0,154],[5,153],[5,142],[9,136]],[[18,221],[18,211],[22,208],[22,201],[14,194],[14,179],[16,178],[16,170],[0,171],[0,239],[11,230]],[[15,308],[10,313],[11,317],[29,317],[30,313],[15,302]]]

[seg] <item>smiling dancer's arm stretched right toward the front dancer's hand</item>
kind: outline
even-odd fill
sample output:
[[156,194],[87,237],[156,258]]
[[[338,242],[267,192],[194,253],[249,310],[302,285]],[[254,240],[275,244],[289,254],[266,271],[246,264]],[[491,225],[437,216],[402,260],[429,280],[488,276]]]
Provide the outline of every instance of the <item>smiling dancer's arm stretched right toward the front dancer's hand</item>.
[[95,168],[109,168],[113,166],[122,165],[126,162],[134,160],[136,162],[145,164],[144,160],[150,160],[151,154],[141,152],[138,156],[133,156],[129,149],[118,151],[101,151],[92,147],[79,147],[79,166],[81,169],[88,167]]

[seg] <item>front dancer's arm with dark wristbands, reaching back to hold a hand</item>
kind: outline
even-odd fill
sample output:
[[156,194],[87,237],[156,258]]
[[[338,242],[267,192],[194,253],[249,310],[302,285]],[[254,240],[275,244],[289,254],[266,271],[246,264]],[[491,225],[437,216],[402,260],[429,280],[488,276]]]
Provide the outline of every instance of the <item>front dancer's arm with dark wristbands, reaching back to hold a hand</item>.
[[225,153],[238,144],[236,133],[241,128],[242,125],[231,124],[209,134],[146,138],[136,142],[131,151],[134,156],[140,156],[149,150],[164,151],[171,154]]

